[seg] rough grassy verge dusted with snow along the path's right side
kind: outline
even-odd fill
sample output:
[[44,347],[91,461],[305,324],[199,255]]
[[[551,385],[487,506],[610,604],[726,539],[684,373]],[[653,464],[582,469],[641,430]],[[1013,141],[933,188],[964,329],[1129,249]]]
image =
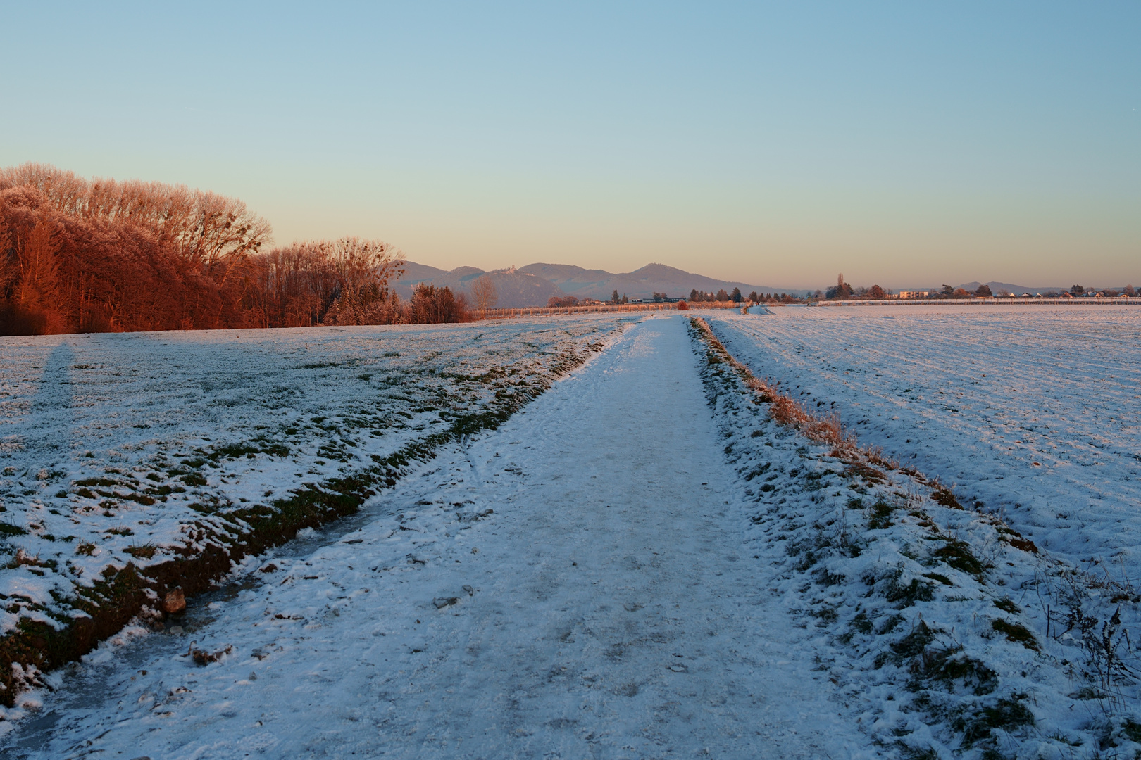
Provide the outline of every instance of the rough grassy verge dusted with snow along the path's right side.
[[860,448],[690,329],[768,593],[884,757],[1141,757],[1132,587]]

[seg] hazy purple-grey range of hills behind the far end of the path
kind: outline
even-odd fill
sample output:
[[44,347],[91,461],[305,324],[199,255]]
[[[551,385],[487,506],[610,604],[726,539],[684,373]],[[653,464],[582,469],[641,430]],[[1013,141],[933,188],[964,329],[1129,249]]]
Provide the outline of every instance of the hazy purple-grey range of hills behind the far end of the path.
[[444,271],[412,261],[406,262],[404,276],[396,281],[394,288],[402,299],[411,299],[412,287],[418,283],[432,283],[439,287],[447,286],[453,291],[468,293],[471,283],[484,273],[495,284],[495,292],[499,295],[495,305],[508,309],[544,307],[552,295],[608,301],[614,291],[630,299],[650,299],[655,293],[665,293],[667,296],[679,299],[688,297],[694,288],[703,293],[717,293],[722,288],[727,293],[733,293],[733,288],[738,287],[745,295],[753,291],[796,295],[806,293],[806,291],[788,291],[768,285],[713,279],[664,264],[646,264],[636,271],[616,275],[602,269],[542,263],[492,272],[484,272],[475,267],[459,267],[452,271]]

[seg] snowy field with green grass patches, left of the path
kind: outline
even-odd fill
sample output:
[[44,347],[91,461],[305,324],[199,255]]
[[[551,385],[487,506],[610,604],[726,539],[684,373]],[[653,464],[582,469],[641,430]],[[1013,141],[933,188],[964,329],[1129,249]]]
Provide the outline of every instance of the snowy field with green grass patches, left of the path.
[[[350,512],[410,459],[501,422],[616,324],[3,340],[0,636],[22,620],[58,630],[132,589],[157,606],[116,573],[164,566],[177,581],[172,559]],[[3,679],[0,697],[24,678]]]

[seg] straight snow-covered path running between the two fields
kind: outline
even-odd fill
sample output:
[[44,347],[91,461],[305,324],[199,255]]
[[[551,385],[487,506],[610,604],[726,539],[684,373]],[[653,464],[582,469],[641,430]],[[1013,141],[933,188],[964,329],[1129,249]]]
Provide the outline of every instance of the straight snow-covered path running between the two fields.
[[[721,448],[685,320],[648,319],[499,431],[387,492],[358,530],[304,556],[261,557],[251,570],[266,572],[181,627],[102,647],[8,749],[858,753],[864,739],[801,645],[809,631],[768,591],[768,563],[746,555]],[[192,639],[233,648],[196,667]]]

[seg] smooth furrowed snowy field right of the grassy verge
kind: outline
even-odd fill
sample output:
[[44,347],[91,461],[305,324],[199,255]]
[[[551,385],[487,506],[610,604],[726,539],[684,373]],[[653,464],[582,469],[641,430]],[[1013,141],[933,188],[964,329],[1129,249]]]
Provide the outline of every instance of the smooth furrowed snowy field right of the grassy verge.
[[1054,554],[1141,579],[1141,308],[771,312],[711,324],[861,443]]

